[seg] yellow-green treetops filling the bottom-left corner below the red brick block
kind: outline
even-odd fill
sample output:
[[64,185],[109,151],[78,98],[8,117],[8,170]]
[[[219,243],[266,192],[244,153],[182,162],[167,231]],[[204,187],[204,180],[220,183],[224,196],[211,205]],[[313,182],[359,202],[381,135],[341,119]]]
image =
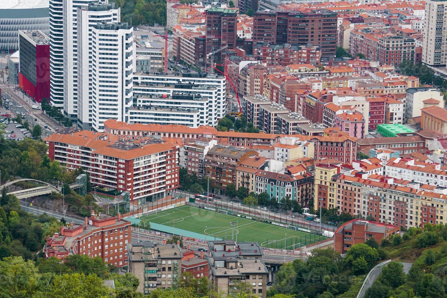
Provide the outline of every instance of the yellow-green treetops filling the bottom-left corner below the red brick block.
[[[22,257],[4,258],[0,261],[1,297],[144,297],[136,292],[139,280],[135,276],[111,273],[99,257],[67,259],[64,264],[54,257],[36,264]],[[82,268],[84,265],[90,268]],[[114,280],[115,289],[104,285],[103,279]]]

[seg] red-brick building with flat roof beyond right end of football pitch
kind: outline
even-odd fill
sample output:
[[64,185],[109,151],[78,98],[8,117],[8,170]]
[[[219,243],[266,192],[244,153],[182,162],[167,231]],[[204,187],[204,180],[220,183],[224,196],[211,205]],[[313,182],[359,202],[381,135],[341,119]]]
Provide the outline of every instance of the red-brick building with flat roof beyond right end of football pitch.
[[380,244],[382,239],[388,239],[389,236],[395,235],[400,229],[400,227],[381,222],[354,219],[344,223],[335,231],[334,250],[346,254],[354,244],[364,243],[371,238],[374,238]]

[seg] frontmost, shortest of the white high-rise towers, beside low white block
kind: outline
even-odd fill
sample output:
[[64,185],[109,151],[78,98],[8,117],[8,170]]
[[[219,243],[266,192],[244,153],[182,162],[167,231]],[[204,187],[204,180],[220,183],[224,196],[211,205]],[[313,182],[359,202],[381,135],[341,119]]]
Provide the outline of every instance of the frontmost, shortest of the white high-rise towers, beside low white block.
[[129,121],[133,98],[133,28],[127,23],[97,23],[92,28],[92,128],[104,121]]

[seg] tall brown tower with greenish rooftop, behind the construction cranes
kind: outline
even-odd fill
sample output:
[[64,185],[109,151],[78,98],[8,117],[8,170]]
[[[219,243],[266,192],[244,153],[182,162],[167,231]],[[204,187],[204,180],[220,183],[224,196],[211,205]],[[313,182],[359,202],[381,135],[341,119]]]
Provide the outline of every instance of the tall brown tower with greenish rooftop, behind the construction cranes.
[[[207,10],[207,53],[227,45],[228,49],[236,49],[237,15],[238,10],[234,8]],[[223,61],[225,56],[226,51],[222,50],[213,55],[213,61]]]

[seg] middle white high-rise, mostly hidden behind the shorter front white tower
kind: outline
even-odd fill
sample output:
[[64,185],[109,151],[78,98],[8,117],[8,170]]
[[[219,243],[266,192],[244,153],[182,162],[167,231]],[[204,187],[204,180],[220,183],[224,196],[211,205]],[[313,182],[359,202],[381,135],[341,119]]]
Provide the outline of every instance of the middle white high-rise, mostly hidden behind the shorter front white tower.
[[98,22],[118,22],[120,8],[114,4],[94,3],[77,8],[77,124],[80,129],[92,128],[92,28]]

